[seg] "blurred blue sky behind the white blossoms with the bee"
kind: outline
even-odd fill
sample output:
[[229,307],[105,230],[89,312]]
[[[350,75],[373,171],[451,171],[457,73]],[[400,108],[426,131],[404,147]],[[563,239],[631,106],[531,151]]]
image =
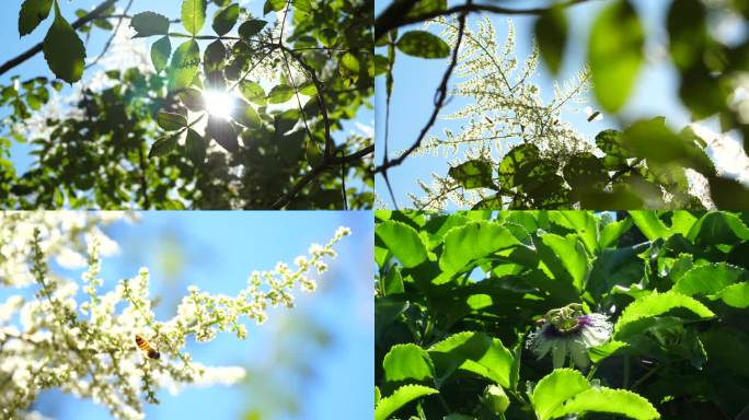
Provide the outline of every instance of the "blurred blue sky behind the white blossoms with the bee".
[[[296,293],[298,307],[273,310],[261,327],[249,324],[244,341],[227,334],[205,345],[188,342],[187,351],[195,361],[247,366],[250,385],[189,388],[178,396],[162,392],[161,405],[148,406],[147,419],[240,419],[249,409],[272,405],[268,398],[274,395],[262,393],[273,389],[274,384],[280,384],[279,393],[302,411],[297,417],[263,419],[371,417],[371,212],[141,214],[137,224],[118,222],[105,229],[119,243],[120,254],[103,261],[102,277],[106,289],[148,267],[152,296],[162,302],[157,310],[162,319],[173,316],[174,305],[188,284],[232,295],[244,287],[252,270],[272,269],[277,261],[290,264],[306,254],[311,243],[326,242],[339,225],[353,231],[338,244],[339,256],[319,282],[318,291]],[[81,270],[62,272],[79,279]],[[4,301],[8,293],[0,289],[0,300]],[[329,347],[306,341],[312,329],[330,336]],[[45,393],[35,408],[57,419],[108,418],[104,408],[59,392]]]

